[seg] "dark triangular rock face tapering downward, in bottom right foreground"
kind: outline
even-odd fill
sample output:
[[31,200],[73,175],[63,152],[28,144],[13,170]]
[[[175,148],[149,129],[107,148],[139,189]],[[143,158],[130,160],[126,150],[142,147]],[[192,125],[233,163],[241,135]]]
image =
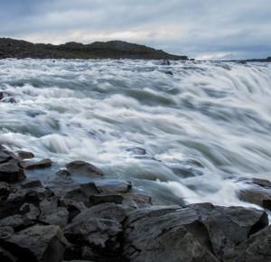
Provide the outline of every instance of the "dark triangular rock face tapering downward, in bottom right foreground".
[[210,235],[214,254],[223,259],[230,248],[237,247],[268,225],[265,211],[242,207],[220,207],[210,203],[190,205],[199,215]]

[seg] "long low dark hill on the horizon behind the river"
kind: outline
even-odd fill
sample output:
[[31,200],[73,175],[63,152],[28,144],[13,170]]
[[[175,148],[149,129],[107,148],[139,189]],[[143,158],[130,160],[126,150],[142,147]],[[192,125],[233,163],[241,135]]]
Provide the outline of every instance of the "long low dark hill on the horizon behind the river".
[[130,42],[109,41],[82,44],[67,42],[53,45],[0,38],[0,59],[144,59],[187,60],[187,56],[169,54],[162,50]]

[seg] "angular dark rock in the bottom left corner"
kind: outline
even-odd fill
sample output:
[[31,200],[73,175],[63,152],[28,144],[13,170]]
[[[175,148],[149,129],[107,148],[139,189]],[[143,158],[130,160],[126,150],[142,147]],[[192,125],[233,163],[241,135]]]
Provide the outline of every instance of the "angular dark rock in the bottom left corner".
[[22,262],[60,262],[68,242],[58,226],[33,226],[4,239],[0,246]]

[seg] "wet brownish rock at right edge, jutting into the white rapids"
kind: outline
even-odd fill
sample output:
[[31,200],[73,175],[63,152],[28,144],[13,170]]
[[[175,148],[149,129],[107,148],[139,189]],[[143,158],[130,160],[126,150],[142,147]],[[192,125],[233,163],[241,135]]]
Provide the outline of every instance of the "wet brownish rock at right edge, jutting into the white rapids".
[[241,201],[256,204],[265,209],[271,210],[271,182],[264,179],[253,178],[247,180],[248,188],[238,192]]

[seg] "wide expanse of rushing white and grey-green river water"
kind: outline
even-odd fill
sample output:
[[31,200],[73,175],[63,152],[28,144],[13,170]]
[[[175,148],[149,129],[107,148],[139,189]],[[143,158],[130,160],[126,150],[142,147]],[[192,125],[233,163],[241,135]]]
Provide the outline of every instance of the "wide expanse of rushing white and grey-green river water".
[[248,205],[239,178],[271,177],[271,64],[2,60],[0,91],[16,101],[0,103],[0,144],[165,203]]

